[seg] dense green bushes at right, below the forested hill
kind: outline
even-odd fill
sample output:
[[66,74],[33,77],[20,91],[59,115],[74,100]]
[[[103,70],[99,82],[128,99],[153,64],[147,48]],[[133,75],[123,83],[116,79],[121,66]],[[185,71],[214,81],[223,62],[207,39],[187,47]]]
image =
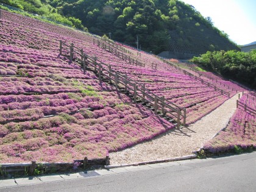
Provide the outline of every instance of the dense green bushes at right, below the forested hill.
[[194,57],[192,62],[256,88],[256,50],[251,52],[208,51],[201,57]]

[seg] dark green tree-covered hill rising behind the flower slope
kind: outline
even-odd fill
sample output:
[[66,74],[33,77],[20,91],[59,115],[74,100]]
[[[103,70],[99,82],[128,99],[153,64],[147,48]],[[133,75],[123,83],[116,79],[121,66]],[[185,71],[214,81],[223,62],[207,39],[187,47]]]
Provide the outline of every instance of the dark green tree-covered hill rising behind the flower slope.
[[228,35],[213,26],[192,5],[176,0],[4,0],[21,9],[52,17],[64,16],[76,27],[87,27],[98,35],[145,51],[202,54],[206,51],[238,49]]

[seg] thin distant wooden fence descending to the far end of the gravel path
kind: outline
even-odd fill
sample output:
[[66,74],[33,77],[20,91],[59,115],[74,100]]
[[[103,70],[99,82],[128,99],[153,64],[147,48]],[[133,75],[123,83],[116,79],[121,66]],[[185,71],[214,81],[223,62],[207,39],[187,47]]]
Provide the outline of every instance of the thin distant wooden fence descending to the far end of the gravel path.
[[188,76],[190,76],[190,77],[193,77],[195,80],[199,80],[199,81],[201,82],[201,84],[207,85],[207,87],[212,87],[212,88],[215,89],[215,91],[219,91],[221,94],[226,94],[226,95],[230,98],[230,93],[229,93],[229,92],[224,91],[224,90],[222,90],[221,88],[218,88],[218,87],[216,87],[215,85],[210,84],[209,82],[206,82],[205,80],[201,79],[200,77],[194,76],[193,74],[189,73],[188,71],[185,71],[184,69],[179,68],[179,67],[177,67],[176,65],[174,65],[174,64],[172,64],[172,63],[170,63],[170,62],[168,62],[168,61],[166,61],[166,60],[164,60],[164,59],[162,59],[162,61],[163,61],[164,63],[167,63],[168,65],[170,65],[170,66],[176,68],[177,70],[182,71],[185,75],[188,75]]

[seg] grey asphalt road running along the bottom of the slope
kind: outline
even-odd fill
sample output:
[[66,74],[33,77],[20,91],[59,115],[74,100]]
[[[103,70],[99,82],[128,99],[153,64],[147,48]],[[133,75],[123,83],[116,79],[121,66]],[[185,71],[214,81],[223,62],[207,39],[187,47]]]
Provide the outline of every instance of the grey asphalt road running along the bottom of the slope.
[[0,191],[256,191],[256,152],[162,165]]

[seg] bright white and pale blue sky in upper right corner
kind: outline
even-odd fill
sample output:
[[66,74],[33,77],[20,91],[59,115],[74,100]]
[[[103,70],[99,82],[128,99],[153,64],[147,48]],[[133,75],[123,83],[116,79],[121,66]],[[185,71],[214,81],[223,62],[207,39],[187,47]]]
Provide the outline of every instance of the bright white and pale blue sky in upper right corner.
[[243,45],[256,41],[256,0],[181,0],[210,16],[230,40]]

